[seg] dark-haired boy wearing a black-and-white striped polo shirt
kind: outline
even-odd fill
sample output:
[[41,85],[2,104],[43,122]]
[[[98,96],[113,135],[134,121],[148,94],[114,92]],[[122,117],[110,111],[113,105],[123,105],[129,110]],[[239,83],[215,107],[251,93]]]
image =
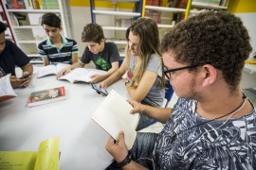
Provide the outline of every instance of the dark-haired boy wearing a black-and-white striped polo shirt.
[[55,13],[46,13],[42,17],[41,25],[46,30],[48,39],[39,43],[39,54],[43,57],[45,65],[78,61],[77,42],[65,38],[61,31],[62,21]]

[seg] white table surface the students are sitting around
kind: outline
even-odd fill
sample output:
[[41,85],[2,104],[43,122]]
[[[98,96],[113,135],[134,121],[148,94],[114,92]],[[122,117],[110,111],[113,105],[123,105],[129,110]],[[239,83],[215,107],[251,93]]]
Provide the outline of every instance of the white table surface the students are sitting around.
[[[0,150],[36,151],[47,138],[60,136],[60,169],[102,169],[112,157],[105,150],[109,135],[91,119],[103,96],[90,84],[57,80],[56,76],[36,78],[26,89],[17,89],[18,97],[0,103]],[[65,87],[66,99],[27,108],[31,92]],[[107,88],[127,98],[119,80]]]

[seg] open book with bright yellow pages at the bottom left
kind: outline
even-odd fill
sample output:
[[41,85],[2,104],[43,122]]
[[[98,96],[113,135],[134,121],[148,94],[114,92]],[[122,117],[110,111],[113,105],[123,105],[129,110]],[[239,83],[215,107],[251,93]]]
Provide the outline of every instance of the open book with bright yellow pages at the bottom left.
[[38,151],[0,151],[1,170],[59,170],[59,137],[43,141]]

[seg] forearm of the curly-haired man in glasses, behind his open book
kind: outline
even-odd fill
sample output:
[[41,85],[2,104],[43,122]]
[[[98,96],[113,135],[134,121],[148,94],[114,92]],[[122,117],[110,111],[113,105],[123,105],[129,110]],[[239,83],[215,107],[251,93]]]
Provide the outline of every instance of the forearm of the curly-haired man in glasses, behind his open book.
[[165,124],[172,113],[172,108],[156,108],[148,105],[142,105],[142,113]]

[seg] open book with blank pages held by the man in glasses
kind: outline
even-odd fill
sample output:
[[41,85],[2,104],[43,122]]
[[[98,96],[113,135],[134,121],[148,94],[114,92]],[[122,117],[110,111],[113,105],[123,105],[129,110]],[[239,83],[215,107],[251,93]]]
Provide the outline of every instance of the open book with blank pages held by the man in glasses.
[[137,136],[139,114],[131,114],[133,107],[119,93],[112,90],[93,113],[92,119],[109,135],[118,141],[119,131],[124,132],[124,140],[131,149]]

